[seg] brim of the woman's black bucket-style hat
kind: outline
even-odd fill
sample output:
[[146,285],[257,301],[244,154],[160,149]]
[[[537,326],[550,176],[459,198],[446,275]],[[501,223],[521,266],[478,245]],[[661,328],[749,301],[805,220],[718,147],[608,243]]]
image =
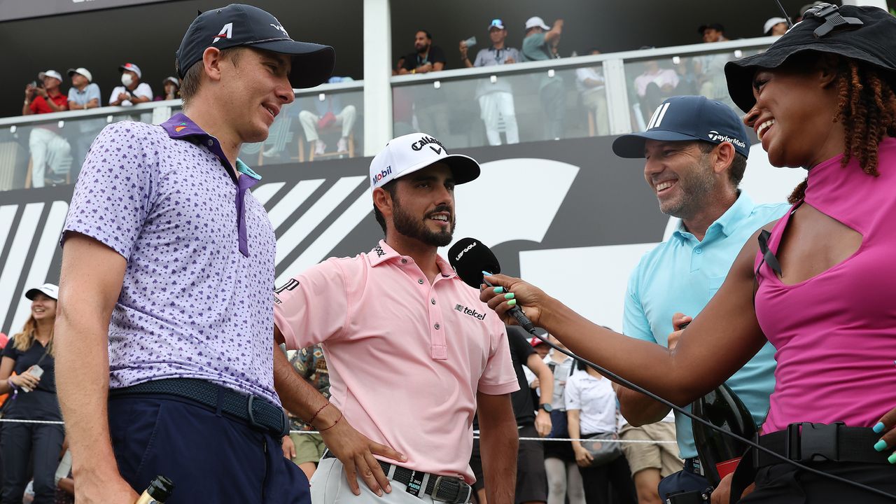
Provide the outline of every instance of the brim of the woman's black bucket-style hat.
[[753,76],[756,70],[759,68],[777,68],[787,61],[790,56],[806,51],[846,56],[866,61],[884,70],[896,71],[896,68],[885,64],[877,56],[849,44],[833,41],[826,44],[806,44],[803,42],[777,48],[772,44],[771,48],[764,53],[746,56],[743,59],[729,61],[725,64],[725,78],[728,81],[728,94],[731,96],[731,100],[735,102],[738,108],[744,112],[749,112],[756,104],[756,99],[753,96]]

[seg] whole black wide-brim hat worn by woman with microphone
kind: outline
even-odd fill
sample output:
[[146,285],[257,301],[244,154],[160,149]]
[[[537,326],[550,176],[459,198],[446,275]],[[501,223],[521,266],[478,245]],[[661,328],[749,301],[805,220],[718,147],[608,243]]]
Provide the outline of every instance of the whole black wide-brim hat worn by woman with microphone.
[[764,53],[729,61],[725,65],[731,100],[745,112],[753,109],[756,70],[777,68],[791,56],[805,51],[864,61],[886,71],[888,81],[896,82],[896,17],[877,7],[815,5],[806,11],[802,22],[794,25]]

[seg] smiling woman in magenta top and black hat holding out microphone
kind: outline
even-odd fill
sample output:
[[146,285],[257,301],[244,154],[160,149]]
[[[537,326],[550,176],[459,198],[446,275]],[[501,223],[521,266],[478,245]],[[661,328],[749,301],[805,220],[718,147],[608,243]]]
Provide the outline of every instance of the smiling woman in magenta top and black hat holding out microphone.
[[[750,464],[738,470],[755,482],[742,502],[896,500],[894,34],[881,9],[821,4],[767,52],[728,64],[731,97],[771,164],[808,178],[793,210],[757,231],[759,250],[747,241],[675,350],[607,331],[526,282],[487,277],[570,350],[676,404],[716,387],[767,337],[778,368],[760,444],[884,494],[760,454],[754,478]],[[507,318],[503,295],[482,299]],[[728,501],[729,484],[713,502]]]

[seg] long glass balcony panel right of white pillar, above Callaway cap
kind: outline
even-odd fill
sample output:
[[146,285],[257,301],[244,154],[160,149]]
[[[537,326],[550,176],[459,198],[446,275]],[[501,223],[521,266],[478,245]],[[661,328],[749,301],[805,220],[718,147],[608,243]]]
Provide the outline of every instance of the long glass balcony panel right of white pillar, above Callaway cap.
[[394,85],[392,117],[452,148],[609,135],[600,63]]

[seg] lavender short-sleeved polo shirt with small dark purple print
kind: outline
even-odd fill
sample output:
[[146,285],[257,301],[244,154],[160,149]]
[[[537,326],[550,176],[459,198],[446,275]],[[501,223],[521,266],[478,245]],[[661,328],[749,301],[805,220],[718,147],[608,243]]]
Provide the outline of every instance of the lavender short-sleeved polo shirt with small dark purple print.
[[65,220],[127,260],[109,322],[109,384],[201,378],[274,404],[276,239],[220,143],[184,114],[106,126]]

